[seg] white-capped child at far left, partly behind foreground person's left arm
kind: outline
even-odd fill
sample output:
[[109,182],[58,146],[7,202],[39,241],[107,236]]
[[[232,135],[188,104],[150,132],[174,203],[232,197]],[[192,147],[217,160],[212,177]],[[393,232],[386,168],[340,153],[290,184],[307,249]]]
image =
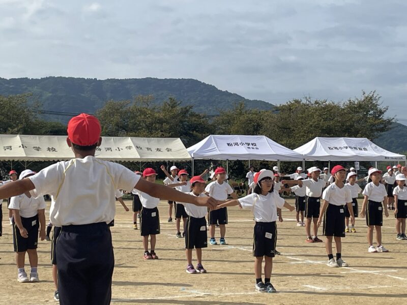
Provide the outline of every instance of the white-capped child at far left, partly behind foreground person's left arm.
[[[35,172],[26,169],[20,173],[20,180],[27,179]],[[45,200],[34,198],[30,193],[11,197],[9,209],[13,212],[13,243],[18,268],[17,281],[20,283],[39,282],[38,278],[38,231],[45,239]],[[25,253],[30,258],[30,278],[24,270]]]

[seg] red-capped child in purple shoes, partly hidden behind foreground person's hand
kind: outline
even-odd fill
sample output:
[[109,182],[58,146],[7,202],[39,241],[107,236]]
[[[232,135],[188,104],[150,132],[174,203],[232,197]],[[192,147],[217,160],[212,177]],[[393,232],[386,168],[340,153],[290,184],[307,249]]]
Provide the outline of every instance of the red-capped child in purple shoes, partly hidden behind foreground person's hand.
[[[189,181],[192,187],[192,192],[188,193],[192,196],[206,197],[205,180],[201,176],[194,176]],[[202,266],[202,248],[208,247],[207,222],[205,215],[207,209],[205,207],[196,206],[190,203],[184,203],[185,212],[188,215],[185,230],[185,249],[187,256],[187,273],[206,273],[207,270]],[[196,251],[196,268],[192,265],[192,250],[195,247]]]

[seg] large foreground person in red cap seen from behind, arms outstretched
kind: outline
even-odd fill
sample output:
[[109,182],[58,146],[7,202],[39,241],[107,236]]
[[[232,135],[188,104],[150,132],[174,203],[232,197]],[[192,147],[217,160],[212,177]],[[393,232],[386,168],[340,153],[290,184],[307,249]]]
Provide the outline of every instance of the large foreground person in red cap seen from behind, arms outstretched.
[[13,185],[0,187],[0,198],[30,191],[51,195],[50,221],[62,227],[56,243],[60,303],[110,304],[114,257],[107,227],[114,218],[114,193],[133,188],[152,197],[215,207],[209,197],[187,195],[151,183],[123,165],[95,158],[102,142],[99,120],[89,114],[68,123],[67,144],[75,158],[48,166]]

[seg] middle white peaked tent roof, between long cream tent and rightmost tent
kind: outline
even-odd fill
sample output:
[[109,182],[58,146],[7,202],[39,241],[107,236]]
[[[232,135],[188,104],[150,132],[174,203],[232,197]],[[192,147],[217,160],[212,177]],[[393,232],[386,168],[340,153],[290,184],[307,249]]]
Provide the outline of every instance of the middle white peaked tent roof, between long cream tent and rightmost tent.
[[188,148],[194,159],[301,161],[303,156],[265,136],[210,135]]

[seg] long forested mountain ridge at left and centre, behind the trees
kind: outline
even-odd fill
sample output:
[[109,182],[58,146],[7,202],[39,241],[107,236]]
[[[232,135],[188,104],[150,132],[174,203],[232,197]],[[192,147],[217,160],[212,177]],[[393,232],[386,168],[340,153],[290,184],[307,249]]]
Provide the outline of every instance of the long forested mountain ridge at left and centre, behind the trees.
[[23,93],[32,93],[41,101],[44,110],[70,113],[95,113],[108,100],[132,100],[138,95],[153,95],[155,103],[173,97],[182,105],[192,105],[194,111],[209,115],[217,114],[219,109],[230,109],[235,102],[241,101],[248,108],[269,110],[274,107],[195,79],[0,78],[0,95]]

